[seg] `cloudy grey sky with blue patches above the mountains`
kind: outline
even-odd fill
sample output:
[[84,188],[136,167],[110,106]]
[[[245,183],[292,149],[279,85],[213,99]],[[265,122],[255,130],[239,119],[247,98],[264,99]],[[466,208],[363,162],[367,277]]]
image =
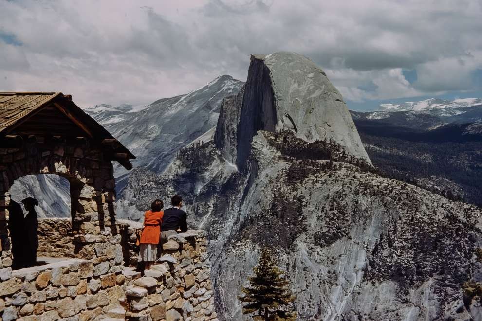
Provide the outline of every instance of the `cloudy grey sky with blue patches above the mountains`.
[[292,51],[355,110],[482,97],[481,17],[482,0],[0,0],[0,90],[143,105]]

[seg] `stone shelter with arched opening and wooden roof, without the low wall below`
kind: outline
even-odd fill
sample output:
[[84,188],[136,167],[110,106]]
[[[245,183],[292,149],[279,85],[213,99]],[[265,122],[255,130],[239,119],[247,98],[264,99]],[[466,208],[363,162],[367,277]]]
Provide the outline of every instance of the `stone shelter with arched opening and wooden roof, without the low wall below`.
[[[132,168],[130,151],[61,92],[0,92],[0,267],[8,267],[9,188],[30,174],[57,174],[70,183],[74,228],[115,222],[112,162]],[[106,223],[105,217],[109,219]]]

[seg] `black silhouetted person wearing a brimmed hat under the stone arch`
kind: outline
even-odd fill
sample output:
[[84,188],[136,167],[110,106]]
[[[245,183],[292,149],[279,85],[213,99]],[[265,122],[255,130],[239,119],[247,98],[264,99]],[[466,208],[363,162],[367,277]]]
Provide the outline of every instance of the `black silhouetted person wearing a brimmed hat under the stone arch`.
[[25,253],[26,265],[27,267],[33,267],[37,264],[38,218],[35,206],[38,205],[38,201],[35,198],[27,197],[22,200],[22,203],[28,211],[25,216],[25,228],[27,230],[25,237],[28,240]]

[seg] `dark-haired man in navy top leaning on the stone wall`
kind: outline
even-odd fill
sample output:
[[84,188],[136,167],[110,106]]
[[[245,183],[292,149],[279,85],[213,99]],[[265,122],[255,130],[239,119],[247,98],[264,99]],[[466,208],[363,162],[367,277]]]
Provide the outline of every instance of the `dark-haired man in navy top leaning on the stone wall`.
[[169,236],[177,234],[177,230],[181,232],[187,231],[187,214],[181,207],[183,206],[183,199],[179,195],[171,197],[171,208],[164,210],[161,243],[166,243]]

